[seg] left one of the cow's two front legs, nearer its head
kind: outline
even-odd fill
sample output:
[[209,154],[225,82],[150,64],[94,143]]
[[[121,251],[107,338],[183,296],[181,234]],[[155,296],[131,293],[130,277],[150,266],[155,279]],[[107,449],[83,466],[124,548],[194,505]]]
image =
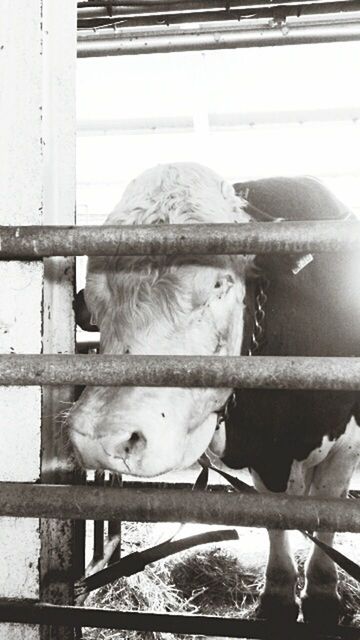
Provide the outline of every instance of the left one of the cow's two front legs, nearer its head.
[[[252,476],[256,489],[260,493],[269,493],[255,472],[252,472]],[[268,534],[269,558],[257,616],[276,622],[295,621],[299,613],[295,597],[297,568],[290,546],[289,532],[272,529]]]

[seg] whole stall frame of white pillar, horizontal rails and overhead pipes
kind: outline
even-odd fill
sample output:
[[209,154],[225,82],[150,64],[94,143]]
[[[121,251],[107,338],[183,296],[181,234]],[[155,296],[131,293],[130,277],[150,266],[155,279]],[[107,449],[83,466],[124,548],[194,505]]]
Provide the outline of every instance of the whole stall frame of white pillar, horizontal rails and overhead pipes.
[[[144,6],[151,5],[151,9]],[[172,10],[169,12],[169,5]],[[200,26],[191,26],[199,21]],[[75,226],[76,55],[274,46],[360,39],[357,2],[79,2],[5,0],[2,92],[0,638],[81,636],[82,626],[269,637],[264,621],[75,607],[86,520],[191,520],[360,532],[355,500],[179,489],[85,486],[57,416],[74,386],[178,385],[359,389],[357,358],[173,358],[75,354],[75,256],[316,251],[360,248],[360,222],[193,228]],[[77,13],[78,9],[78,13]],[[79,41],[76,45],[78,18]],[[124,23],[125,30],[118,28]],[[159,26],[159,22],[161,25]],[[189,26],[190,25],[190,26]],[[101,29],[97,30],[98,27]],[[191,27],[191,28],[190,28]],[[181,231],[181,234],[179,233]],[[206,371],[204,371],[206,364]],[[9,455],[9,450],[12,452]],[[16,457],[15,457],[16,454]],[[165,500],[166,498],[166,500]],[[306,625],[287,630],[313,637]],[[358,638],[359,630],[334,629]]]

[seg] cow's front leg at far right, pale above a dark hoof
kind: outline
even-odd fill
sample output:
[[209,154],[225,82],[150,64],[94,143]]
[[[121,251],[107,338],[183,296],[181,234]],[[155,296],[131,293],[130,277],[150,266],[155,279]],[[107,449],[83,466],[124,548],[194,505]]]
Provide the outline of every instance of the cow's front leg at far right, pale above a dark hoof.
[[[359,456],[360,428],[352,421],[327,458],[316,467],[310,495],[345,497]],[[331,545],[334,533],[319,532],[317,538]],[[340,598],[336,567],[316,545],[305,566],[301,600],[306,622],[335,624],[338,621]]]

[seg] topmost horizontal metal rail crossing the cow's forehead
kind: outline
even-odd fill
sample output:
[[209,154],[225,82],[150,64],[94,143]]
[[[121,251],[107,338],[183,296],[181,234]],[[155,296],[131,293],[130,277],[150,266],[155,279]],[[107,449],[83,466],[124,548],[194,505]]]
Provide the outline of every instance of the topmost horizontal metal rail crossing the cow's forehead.
[[0,227],[0,258],[338,252],[360,248],[360,221]]

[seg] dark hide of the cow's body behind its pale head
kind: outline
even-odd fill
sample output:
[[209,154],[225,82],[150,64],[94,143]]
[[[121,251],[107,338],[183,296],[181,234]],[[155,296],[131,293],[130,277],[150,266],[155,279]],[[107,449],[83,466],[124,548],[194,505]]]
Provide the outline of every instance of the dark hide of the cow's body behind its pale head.
[[[235,188],[246,189],[250,204],[274,217],[352,215],[312,178],[269,178]],[[289,258],[255,262],[268,280],[265,340],[256,355],[360,356],[359,256],[317,254],[297,275]],[[250,309],[250,325],[252,315]],[[351,416],[360,424],[360,392],[237,390],[223,460],[232,468],[251,467],[268,489],[285,491],[293,460],[306,459],[325,435],[338,438]]]

